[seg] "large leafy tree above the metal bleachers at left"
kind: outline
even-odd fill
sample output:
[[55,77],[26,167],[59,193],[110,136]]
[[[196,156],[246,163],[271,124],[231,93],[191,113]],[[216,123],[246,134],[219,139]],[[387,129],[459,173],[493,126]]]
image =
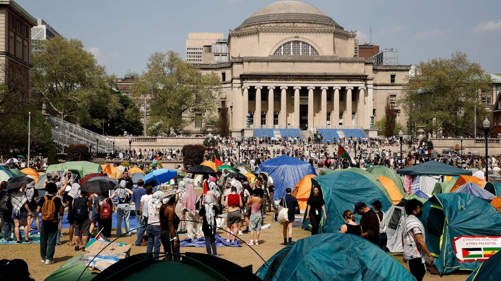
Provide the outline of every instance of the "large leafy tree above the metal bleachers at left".
[[110,90],[114,76],[106,74],[82,41],[56,36],[44,40],[41,50],[32,59],[33,90],[41,95],[48,113],[84,125],[117,114],[118,98]]

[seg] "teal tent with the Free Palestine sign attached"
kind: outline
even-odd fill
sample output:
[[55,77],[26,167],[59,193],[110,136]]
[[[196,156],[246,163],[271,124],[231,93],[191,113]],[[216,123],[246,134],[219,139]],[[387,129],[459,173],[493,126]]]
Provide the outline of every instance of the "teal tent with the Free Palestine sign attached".
[[[501,213],[483,199],[459,192],[433,195],[423,204],[419,218],[425,226],[426,245],[440,275],[455,269],[474,270],[485,258],[480,243],[464,246],[466,239],[499,236]],[[495,244],[494,244],[495,246]],[[493,247],[492,245],[490,247]]]

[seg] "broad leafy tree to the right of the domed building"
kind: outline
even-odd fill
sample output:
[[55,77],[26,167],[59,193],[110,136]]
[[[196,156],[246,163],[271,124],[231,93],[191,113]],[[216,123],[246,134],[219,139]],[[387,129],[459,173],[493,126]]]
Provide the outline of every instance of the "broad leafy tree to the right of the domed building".
[[[477,120],[487,116],[478,97],[481,91],[490,90],[492,80],[465,53],[421,61],[408,80],[399,103],[409,119],[424,125],[426,132],[472,135],[475,102]],[[481,131],[481,126],[477,130]]]

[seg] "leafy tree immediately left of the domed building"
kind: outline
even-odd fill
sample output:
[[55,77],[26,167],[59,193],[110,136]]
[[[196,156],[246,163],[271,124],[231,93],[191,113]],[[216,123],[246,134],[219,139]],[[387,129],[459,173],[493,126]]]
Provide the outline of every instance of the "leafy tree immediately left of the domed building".
[[198,118],[195,112],[216,108],[221,90],[216,73],[201,75],[175,51],[153,53],[146,68],[135,79],[132,92],[134,96],[152,94],[150,122],[157,134],[178,133]]

